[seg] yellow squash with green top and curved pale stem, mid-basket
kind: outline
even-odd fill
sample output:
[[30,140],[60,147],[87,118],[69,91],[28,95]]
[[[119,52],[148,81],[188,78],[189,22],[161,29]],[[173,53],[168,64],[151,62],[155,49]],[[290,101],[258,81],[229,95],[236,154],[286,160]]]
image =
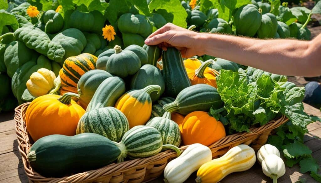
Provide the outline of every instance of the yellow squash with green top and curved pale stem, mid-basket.
[[149,85],[143,89],[134,89],[121,96],[115,107],[123,112],[129,122],[129,128],[144,125],[152,114],[152,99],[150,94],[159,92],[160,86]]

